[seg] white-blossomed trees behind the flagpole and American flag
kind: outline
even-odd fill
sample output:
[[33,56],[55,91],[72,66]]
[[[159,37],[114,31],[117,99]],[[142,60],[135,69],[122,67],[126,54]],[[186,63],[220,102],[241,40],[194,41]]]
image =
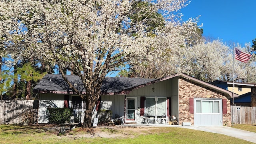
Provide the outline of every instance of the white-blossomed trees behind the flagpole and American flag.
[[[244,48],[238,44],[238,49],[250,53],[253,48],[250,44]],[[206,82],[232,81],[234,67],[234,82],[255,82],[255,56],[248,63],[235,60],[233,46],[227,46],[220,40],[196,44],[187,53],[184,72],[195,78]]]

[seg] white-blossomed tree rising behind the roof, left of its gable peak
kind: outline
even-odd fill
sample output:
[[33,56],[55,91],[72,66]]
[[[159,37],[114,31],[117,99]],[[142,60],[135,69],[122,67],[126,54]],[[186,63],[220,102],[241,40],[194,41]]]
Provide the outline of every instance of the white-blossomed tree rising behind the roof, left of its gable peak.
[[[202,41],[202,33],[191,20],[176,26],[176,23],[166,23],[159,31],[156,42],[146,52],[146,56],[135,58],[127,73],[131,77],[161,78],[177,72],[187,72],[188,55],[192,46]],[[122,76],[124,71],[119,73]]]

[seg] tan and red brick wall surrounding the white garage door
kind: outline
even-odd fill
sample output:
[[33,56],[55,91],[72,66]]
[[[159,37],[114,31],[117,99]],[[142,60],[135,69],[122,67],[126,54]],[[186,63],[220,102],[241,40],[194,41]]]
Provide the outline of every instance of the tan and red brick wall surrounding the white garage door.
[[189,98],[221,98],[227,100],[227,114],[223,114],[223,125],[231,126],[230,100],[222,93],[191,82],[185,78],[179,80],[179,125],[182,122],[191,122],[194,125],[194,114],[189,112]]

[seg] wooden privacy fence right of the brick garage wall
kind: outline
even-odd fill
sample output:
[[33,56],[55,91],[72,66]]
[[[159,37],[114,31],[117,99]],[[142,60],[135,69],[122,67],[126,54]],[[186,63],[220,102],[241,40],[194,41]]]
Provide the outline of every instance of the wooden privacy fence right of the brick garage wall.
[[256,107],[231,106],[231,122],[234,124],[256,124]]

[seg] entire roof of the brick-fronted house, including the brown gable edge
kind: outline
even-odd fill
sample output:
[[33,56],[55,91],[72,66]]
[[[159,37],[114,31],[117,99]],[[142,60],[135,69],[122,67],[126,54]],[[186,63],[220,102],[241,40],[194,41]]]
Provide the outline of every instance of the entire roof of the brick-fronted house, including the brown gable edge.
[[[161,82],[174,77],[182,77],[186,78],[190,81],[194,81],[198,84],[202,84],[208,88],[217,90],[218,92],[222,92],[226,94],[228,98],[238,97],[238,94],[233,94],[232,92],[220,88],[218,86],[214,86],[192,76],[188,76],[187,74],[179,73],[173,74],[171,76],[166,76],[164,78],[159,79],[146,79],[146,78],[124,78],[124,77],[106,77],[101,86],[101,94],[128,94],[130,91],[141,88],[143,86],[147,86],[150,84],[154,84],[157,82]],[[79,76],[76,75],[66,75],[66,78],[76,86],[78,90],[85,93],[84,86]],[[60,74],[46,74],[42,80],[34,87],[33,92],[37,93],[54,93],[54,94],[75,94],[71,88],[69,88],[68,84],[64,81]]]

